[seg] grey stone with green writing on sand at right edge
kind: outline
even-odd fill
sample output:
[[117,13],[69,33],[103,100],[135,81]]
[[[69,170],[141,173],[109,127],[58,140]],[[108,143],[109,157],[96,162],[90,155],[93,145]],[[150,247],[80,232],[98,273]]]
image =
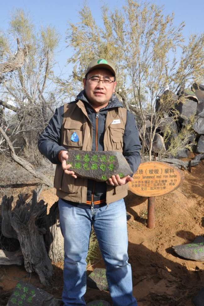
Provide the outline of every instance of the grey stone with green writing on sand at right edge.
[[176,254],[186,259],[204,261],[204,238],[202,236],[197,236],[192,243],[173,246],[173,249]]

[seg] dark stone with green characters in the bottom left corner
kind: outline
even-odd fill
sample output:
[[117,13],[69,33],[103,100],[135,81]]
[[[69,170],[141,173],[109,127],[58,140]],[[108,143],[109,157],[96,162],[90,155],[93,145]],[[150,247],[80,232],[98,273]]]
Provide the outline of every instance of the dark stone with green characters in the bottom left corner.
[[9,298],[7,306],[62,306],[63,302],[46,291],[19,281]]

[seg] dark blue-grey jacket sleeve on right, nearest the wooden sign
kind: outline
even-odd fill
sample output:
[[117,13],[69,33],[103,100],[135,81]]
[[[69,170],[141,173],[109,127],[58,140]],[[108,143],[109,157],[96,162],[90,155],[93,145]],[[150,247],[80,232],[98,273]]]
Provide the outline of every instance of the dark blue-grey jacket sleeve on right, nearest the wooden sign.
[[123,135],[123,155],[131,167],[133,174],[137,171],[141,163],[140,150],[141,144],[135,117],[132,113],[127,111],[126,126]]

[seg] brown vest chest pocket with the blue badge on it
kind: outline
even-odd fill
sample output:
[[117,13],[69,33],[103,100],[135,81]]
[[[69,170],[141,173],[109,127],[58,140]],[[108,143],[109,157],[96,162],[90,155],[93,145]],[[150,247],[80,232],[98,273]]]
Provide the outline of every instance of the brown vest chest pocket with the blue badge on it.
[[83,146],[84,124],[77,121],[65,121],[63,146],[77,150]]

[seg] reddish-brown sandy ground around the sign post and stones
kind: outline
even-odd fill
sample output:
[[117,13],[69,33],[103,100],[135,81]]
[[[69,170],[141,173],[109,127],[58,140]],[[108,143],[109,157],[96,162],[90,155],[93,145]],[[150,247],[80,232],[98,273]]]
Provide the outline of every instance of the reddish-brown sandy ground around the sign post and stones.
[[[192,242],[204,236],[204,161],[192,167],[191,173],[183,171],[185,180],[175,191],[156,198],[155,228],[147,228],[147,198],[132,192],[125,199],[131,219],[127,221],[129,233],[129,262],[132,265],[133,294],[138,306],[193,306],[192,298],[204,286],[204,263],[177,256],[172,246]],[[30,186],[31,185],[31,186]],[[13,194],[29,193],[32,186],[20,186]],[[1,190],[1,196],[4,194]],[[53,189],[44,190],[41,197],[49,205],[55,200]],[[89,267],[104,267],[102,259]],[[24,266],[0,267],[0,305],[6,305],[19,280],[30,282],[52,293],[62,294],[63,263],[53,265],[55,280],[51,290],[44,288],[36,274],[27,273]],[[104,299],[109,302],[109,292],[87,288],[87,302]]]

